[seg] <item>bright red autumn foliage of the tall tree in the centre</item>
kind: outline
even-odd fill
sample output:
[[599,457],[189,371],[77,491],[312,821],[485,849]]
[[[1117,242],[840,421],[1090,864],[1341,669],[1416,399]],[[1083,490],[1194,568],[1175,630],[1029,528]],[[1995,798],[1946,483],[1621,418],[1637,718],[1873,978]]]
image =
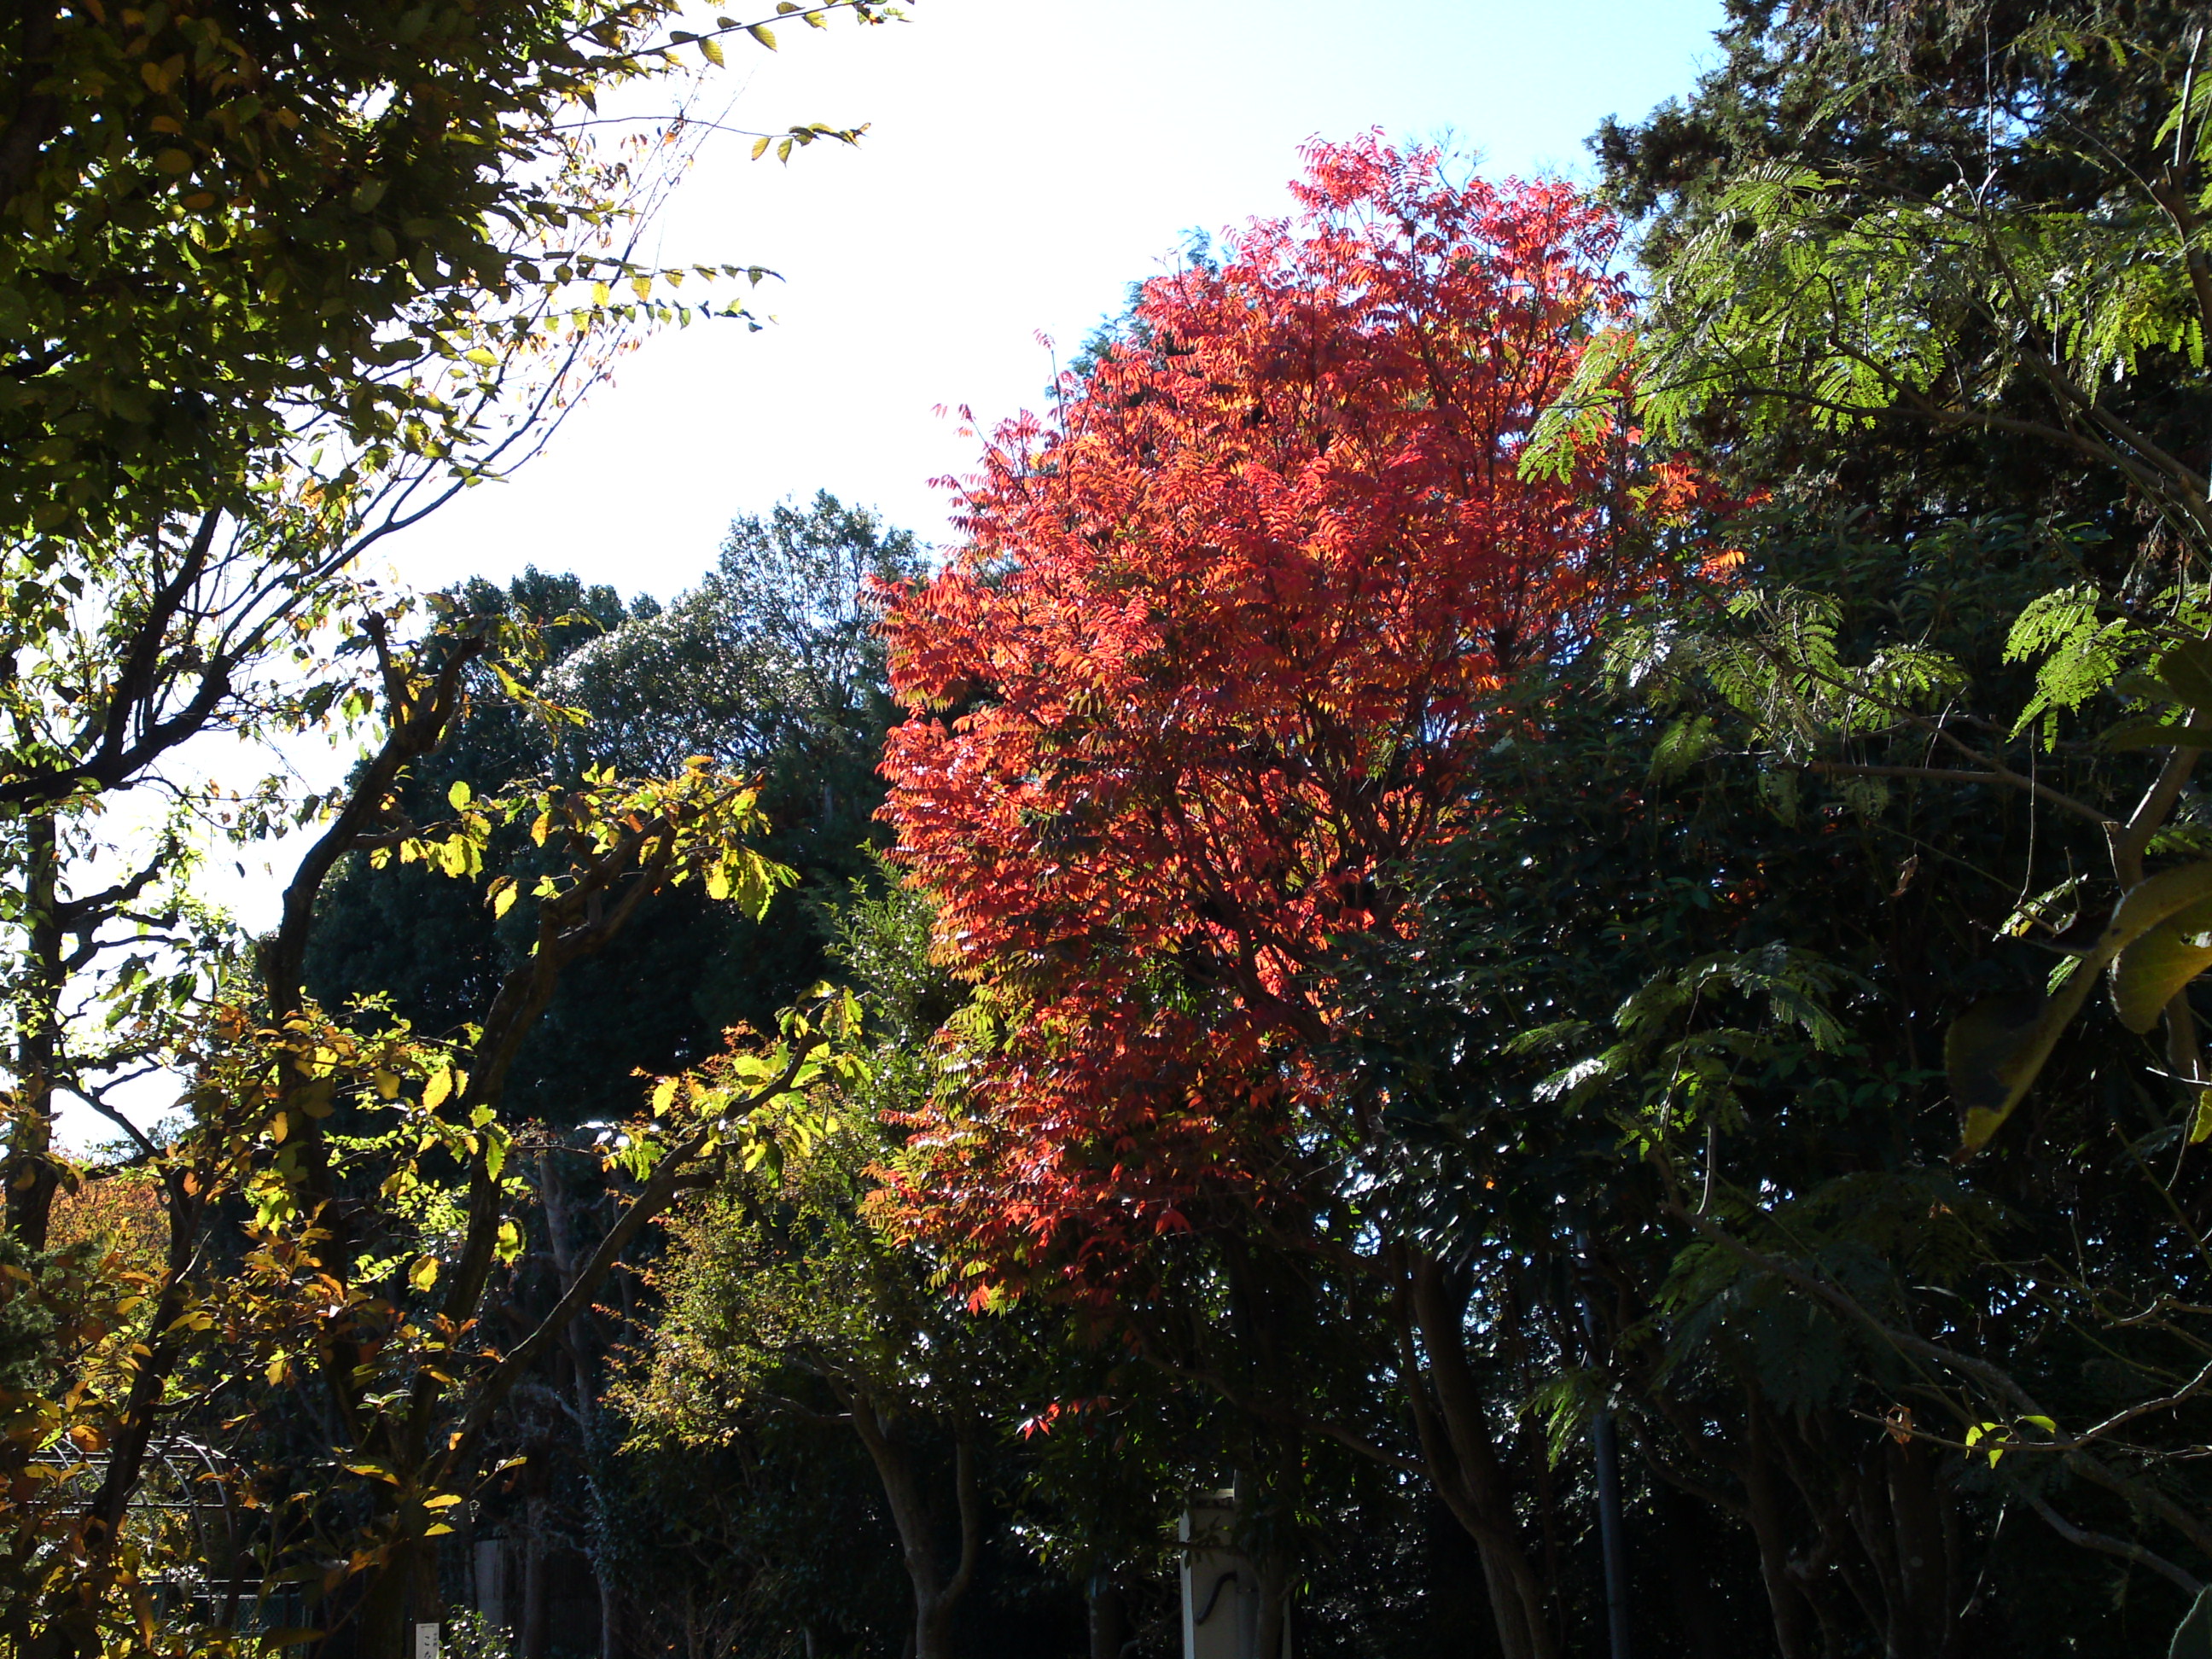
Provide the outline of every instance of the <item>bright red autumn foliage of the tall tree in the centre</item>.
[[998,429],[967,549],[889,595],[896,856],[1020,995],[896,1197],[987,1276],[1267,1186],[1321,1093],[1301,969],[1402,925],[1376,878],[1464,812],[1489,695],[1586,635],[1690,491],[1604,418],[1562,476],[1520,469],[1626,314],[1610,217],[1374,137],[1307,161],[1296,219],[1146,283],[1055,420]]

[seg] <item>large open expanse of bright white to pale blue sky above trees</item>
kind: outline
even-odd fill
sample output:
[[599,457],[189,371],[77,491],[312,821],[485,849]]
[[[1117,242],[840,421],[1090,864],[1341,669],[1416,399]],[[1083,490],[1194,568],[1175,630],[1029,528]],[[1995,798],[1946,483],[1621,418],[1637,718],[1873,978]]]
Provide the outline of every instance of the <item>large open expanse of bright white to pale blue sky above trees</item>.
[[[752,15],[752,13],[745,13]],[[761,263],[772,325],[648,343],[553,449],[387,544],[436,586],[524,564],[668,595],[734,513],[880,507],[945,538],[929,480],[973,465],[940,405],[1035,405],[1062,356],[1192,226],[1285,206],[1312,135],[1455,135],[1491,173],[1586,175],[1584,137],[1686,93],[1719,0],[909,0],[880,29],[728,49],[732,119],[872,128],[787,168],[719,142],[668,261]],[[690,294],[692,290],[686,290]]]

